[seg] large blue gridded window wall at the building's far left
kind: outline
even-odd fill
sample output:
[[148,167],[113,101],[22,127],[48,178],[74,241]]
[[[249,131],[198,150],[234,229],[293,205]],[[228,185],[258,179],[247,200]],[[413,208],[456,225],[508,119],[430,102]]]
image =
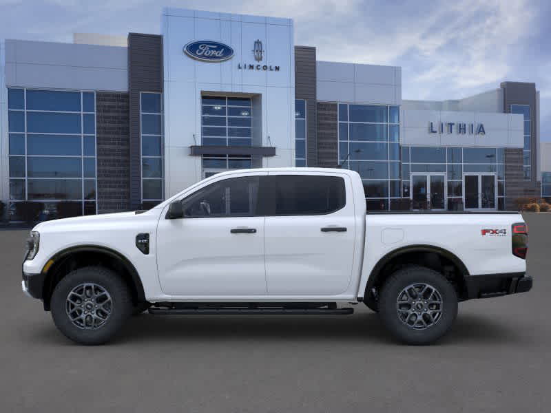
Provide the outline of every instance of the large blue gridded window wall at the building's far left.
[[96,213],[95,102],[94,92],[8,89],[10,220]]

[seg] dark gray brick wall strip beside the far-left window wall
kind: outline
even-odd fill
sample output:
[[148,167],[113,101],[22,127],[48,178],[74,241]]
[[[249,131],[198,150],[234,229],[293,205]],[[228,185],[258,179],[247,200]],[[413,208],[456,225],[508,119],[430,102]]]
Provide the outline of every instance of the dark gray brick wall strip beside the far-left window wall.
[[129,210],[128,94],[96,92],[98,213]]

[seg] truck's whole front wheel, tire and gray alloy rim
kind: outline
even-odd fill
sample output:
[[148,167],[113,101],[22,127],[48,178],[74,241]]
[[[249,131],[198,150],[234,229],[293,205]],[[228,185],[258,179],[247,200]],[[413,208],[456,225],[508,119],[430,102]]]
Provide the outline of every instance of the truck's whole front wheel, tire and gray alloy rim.
[[52,318],[76,343],[109,341],[132,314],[132,296],[116,273],[101,266],[79,268],[54,288]]

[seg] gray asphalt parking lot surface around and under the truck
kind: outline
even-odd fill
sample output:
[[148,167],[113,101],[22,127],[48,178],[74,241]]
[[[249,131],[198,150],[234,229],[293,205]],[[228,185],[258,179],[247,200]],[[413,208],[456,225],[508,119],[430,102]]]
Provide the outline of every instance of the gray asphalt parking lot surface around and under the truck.
[[349,316],[132,318],[106,346],[21,293],[28,231],[0,231],[0,412],[549,412],[551,213],[526,214],[530,293],[459,304],[435,346]]

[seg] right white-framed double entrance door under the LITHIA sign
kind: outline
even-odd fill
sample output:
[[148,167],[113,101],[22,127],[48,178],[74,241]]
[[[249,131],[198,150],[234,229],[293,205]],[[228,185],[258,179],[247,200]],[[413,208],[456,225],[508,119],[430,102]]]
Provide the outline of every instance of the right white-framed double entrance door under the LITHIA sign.
[[465,209],[497,209],[495,173],[468,173],[463,176]]

